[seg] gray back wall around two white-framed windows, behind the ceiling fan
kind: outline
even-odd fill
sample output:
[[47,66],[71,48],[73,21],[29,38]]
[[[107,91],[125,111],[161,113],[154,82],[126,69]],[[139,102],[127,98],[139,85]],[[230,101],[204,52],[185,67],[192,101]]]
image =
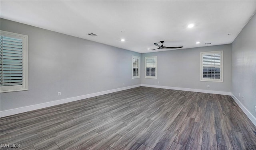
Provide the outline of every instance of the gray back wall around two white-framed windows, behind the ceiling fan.
[[[224,82],[200,81],[200,52],[224,51]],[[157,56],[157,79],[145,79],[144,58]],[[142,54],[142,84],[231,92],[231,45],[217,45]],[[157,83],[159,81],[159,84]],[[210,85],[210,88],[207,88]]]

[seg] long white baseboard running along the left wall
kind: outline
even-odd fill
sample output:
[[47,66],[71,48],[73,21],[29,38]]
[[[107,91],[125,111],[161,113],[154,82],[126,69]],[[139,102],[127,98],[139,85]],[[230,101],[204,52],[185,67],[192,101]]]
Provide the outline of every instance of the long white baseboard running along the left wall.
[[56,101],[50,101],[47,103],[40,103],[40,104],[30,105],[30,106],[26,106],[26,107],[9,109],[9,110],[5,110],[5,111],[1,111],[0,115],[1,115],[1,117],[6,117],[6,116],[10,116],[10,115],[15,115],[18,113],[24,113],[27,111],[33,111],[36,109],[46,108],[46,107],[50,107],[50,106],[54,106],[54,105],[72,102],[72,101],[78,101],[81,99],[86,99],[86,98],[95,97],[95,96],[99,96],[99,95],[109,94],[109,93],[118,92],[118,91],[122,91],[122,90],[128,90],[128,89],[136,88],[139,86],[141,86],[141,84],[134,85],[134,86],[126,86],[124,88],[117,88],[117,89],[113,89],[113,90],[107,90],[107,91],[86,94],[86,95],[81,95],[81,96],[76,96],[76,97],[70,97],[70,98],[66,98],[66,99],[60,99],[60,100],[56,100]]

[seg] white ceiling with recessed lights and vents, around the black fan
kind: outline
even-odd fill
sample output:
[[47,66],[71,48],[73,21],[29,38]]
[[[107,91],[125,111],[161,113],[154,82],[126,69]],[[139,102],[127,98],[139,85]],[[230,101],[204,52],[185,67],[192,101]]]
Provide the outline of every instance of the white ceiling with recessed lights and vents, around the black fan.
[[[250,1],[3,1],[1,18],[138,53],[230,44],[256,11]],[[187,25],[194,23],[193,28]],[[124,31],[124,32],[121,32]],[[96,33],[91,37],[88,33]],[[228,35],[230,34],[231,35]],[[120,39],[126,39],[122,42]],[[200,44],[195,44],[200,41]],[[159,44],[160,45],[160,44]],[[173,49],[158,49],[167,51]]]

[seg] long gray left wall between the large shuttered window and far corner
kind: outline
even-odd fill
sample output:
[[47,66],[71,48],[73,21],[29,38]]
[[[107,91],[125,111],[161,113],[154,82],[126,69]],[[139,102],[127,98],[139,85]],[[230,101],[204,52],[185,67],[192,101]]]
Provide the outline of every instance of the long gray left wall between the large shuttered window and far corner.
[[29,55],[29,90],[2,93],[1,111],[141,84],[132,79],[140,53],[6,19],[1,30],[28,35]]

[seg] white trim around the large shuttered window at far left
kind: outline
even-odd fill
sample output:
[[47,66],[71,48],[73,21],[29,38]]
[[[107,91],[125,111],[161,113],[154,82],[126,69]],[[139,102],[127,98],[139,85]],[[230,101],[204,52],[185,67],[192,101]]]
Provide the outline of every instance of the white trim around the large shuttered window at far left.
[[16,92],[16,91],[24,91],[28,90],[28,35],[22,35],[18,33],[12,33],[8,31],[0,31],[1,35],[6,35],[9,37],[22,37],[24,39],[24,51],[22,51],[22,67],[24,67],[22,75],[24,74],[24,78],[22,81],[22,86],[2,86],[0,87],[0,93],[5,93],[5,92]]

